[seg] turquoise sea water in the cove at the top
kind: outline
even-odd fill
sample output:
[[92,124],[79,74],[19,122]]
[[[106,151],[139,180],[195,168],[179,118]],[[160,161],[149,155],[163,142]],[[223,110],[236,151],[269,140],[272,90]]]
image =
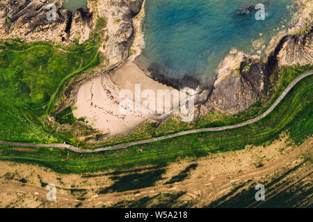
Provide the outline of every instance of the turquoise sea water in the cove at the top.
[[[237,9],[268,4],[266,19],[236,15]],[[232,47],[256,54],[252,42],[268,46],[291,19],[291,0],[147,0],[142,56],[169,76],[195,76],[211,82],[218,64]],[[275,31],[274,31],[275,29]],[[262,37],[259,36],[262,33]]]

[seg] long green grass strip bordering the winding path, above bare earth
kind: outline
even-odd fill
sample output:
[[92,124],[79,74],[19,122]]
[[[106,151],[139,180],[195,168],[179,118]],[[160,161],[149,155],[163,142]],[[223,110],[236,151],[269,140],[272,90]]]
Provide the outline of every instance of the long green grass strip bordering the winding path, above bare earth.
[[[274,75],[273,87],[269,92],[271,101],[264,107],[254,105],[248,112],[236,117],[223,117],[220,124],[236,123],[241,119],[254,117],[268,108],[283,89],[296,76],[312,67],[285,68]],[[295,85],[278,107],[267,117],[250,126],[220,132],[198,133],[167,139],[161,142],[132,146],[118,151],[101,153],[69,153],[57,148],[40,148],[37,152],[15,151],[7,146],[1,147],[0,160],[27,162],[49,167],[61,173],[83,173],[107,169],[131,169],[143,165],[166,165],[185,157],[202,157],[214,152],[233,151],[246,145],[261,145],[278,139],[283,132],[289,133],[291,142],[302,143],[313,133],[312,99],[313,76]],[[203,123],[204,124],[204,123]],[[207,121],[205,126],[214,122]]]

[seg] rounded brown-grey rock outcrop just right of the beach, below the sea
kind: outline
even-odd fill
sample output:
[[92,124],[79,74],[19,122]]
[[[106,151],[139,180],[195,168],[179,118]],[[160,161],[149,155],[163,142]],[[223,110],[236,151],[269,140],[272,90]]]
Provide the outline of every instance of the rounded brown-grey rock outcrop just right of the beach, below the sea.
[[220,76],[214,83],[214,89],[205,104],[220,112],[236,114],[262,99],[267,92],[268,76],[265,65],[257,57],[246,58],[238,69]]

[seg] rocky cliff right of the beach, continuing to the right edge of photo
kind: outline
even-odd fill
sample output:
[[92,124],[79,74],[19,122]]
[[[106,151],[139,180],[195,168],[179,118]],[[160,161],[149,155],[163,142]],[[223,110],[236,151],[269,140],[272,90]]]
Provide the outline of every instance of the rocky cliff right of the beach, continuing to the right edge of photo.
[[246,57],[243,53],[225,58],[217,69],[214,89],[200,112],[211,110],[236,114],[266,96],[268,79],[284,65],[313,64],[312,24],[303,31],[285,35],[266,62],[259,56]]

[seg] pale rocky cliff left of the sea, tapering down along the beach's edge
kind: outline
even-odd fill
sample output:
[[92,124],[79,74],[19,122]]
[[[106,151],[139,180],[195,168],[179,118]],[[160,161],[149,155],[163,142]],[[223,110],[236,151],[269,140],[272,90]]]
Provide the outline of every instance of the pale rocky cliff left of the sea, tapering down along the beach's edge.
[[135,17],[141,12],[142,6],[143,0],[88,1],[88,8],[90,13],[93,14],[90,20],[94,20],[93,23],[95,24],[99,18],[104,18],[106,21],[106,26],[102,30],[104,32],[102,33],[103,43],[99,49],[105,61],[93,70],[86,71],[70,80],[70,83],[63,91],[63,98],[58,103],[59,111],[74,105],[77,100],[79,87],[83,83],[113,71],[128,60],[130,56],[134,56],[131,55],[131,49],[136,48],[134,44],[141,42],[136,40],[138,36],[135,34],[138,33],[135,32],[134,22],[138,22],[141,19],[135,19]]

